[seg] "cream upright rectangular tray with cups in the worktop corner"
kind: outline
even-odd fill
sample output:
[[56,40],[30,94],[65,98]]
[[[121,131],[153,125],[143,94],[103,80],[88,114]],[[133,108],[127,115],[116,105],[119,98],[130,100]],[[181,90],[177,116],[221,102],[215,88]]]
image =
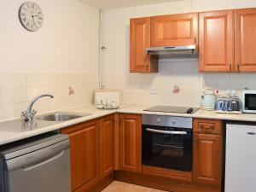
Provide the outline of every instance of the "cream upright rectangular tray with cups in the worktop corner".
[[96,90],[96,108],[114,109],[119,108],[119,90]]

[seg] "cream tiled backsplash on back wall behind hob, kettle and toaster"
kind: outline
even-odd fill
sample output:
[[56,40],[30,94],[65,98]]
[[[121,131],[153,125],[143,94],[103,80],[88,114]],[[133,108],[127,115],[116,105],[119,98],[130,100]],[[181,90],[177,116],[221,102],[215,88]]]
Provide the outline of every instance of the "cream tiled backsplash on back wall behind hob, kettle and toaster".
[[[200,106],[201,90],[207,86],[219,89],[222,95],[226,90],[237,90],[241,96],[245,87],[256,89],[256,76],[252,73],[198,73],[198,61],[185,60],[162,60],[159,67],[159,73],[127,71],[119,81],[104,79],[104,84],[107,88],[121,90],[124,103],[193,107]],[[109,70],[108,75],[114,76],[112,72]],[[174,86],[180,88],[178,94],[173,94]]]

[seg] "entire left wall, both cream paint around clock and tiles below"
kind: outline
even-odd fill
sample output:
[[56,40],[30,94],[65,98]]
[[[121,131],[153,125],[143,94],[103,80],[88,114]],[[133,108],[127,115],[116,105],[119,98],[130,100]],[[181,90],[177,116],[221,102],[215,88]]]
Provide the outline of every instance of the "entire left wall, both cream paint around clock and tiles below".
[[34,0],[44,25],[28,32],[18,18],[24,2],[0,1],[0,120],[19,118],[39,94],[55,98],[38,101],[38,113],[90,105],[99,83],[99,10],[77,0]]

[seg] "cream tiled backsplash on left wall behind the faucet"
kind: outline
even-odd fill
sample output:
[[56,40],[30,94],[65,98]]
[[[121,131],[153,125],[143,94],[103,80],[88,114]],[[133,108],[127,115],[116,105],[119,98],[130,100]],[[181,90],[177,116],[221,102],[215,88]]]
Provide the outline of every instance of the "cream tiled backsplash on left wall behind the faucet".
[[[69,96],[69,87],[74,94]],[[40,94],[34,108],[38,113],[91,105],[98,88],[98,74],[87,73],[0,73],[0,120],[20,117],[28,102]]]

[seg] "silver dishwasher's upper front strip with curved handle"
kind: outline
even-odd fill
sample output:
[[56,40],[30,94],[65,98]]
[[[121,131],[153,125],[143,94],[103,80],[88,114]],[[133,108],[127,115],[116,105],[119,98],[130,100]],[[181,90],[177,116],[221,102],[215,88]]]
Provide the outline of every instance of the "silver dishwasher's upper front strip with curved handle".
[[21,155],[11,160],[3,162],[4,171],[14,171],[22,169],[25,171],[31,170],[36,166],[43,166],[49,161],[55,160],[69,150],[69,140],[55,143],[46,148],[41,148],[29,154]]

